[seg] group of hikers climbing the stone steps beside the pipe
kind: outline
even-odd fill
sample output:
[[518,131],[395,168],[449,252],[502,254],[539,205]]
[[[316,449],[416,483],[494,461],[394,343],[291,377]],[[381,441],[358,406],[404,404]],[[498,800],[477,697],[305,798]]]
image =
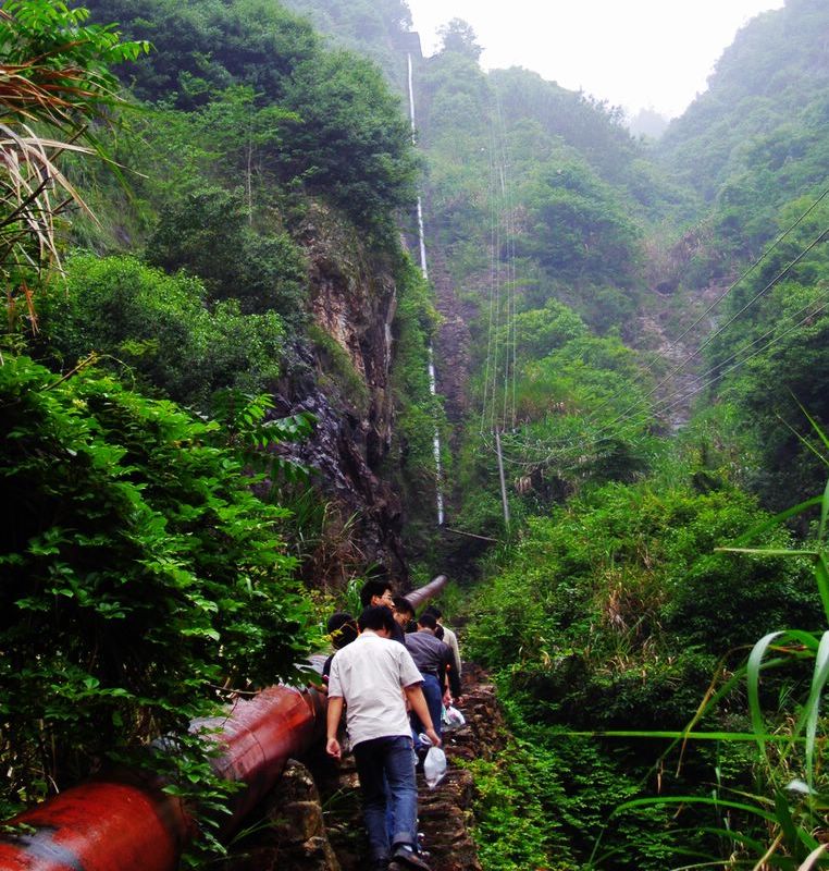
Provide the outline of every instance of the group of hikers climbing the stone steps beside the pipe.
[[419,617],[391,584],[371,579],[360,591],[357,621],[329,619],[334,653],[323,666],[326,751],[338,760],[345,709],[357,764],[371,869],[429,871],[418,842],[417,765],[442,745],[444,707],[460,700],[460,655],[442,613]]

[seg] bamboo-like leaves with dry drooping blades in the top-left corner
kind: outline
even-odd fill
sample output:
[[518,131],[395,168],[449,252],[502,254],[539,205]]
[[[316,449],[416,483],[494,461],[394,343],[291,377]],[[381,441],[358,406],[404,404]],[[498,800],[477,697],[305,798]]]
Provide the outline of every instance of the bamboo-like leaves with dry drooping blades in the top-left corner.
[[33,326],[33,277],[60,262],[55,218],[71,206],[89,211],[59,160],[97,150],[88,125],[117,102],[108,63],[148,48],[85,25],[86,15],[57,0],[11,0],[0,11],[0,275],[10,319],[22,297]]

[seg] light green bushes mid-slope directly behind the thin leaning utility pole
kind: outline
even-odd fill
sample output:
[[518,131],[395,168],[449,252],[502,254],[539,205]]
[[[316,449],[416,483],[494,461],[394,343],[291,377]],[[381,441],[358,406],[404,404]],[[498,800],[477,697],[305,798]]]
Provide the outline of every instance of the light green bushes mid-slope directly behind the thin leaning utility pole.
[[[607,481],[633,481],[658,456],[649,433],[646,373],[638,355],[616,336],[598,338],[566,305],[515,316],[500,332],[502,357],[515,341],[515,381],[487,391],[484,414],[467,422],[458,464],[462,519],[470,532],[499,536],[502,505],[491,431],[504,404],[516,419],[502,436],[510,512],[516,518],[544,514],[550,505]],[[486,371],[492,361],[480,364]],[[483,407],[485,385],[474,383]],[[509,421],[508,421],[509,424]]]

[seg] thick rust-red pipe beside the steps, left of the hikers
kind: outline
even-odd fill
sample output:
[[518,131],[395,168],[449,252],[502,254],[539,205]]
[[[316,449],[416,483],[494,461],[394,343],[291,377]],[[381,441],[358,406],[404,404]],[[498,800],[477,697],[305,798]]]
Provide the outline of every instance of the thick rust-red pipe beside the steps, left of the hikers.
[[[324,733],[324,702],[314,691],[276,686],[238,701],[226,716],[197,721],[215,729],[218,773],[247,788],[235,797],[238,821],[271,789],[285,762]],[[161,784],[113,776],[67,789],[11,820],[25,824],[0,838],[2,871],[173,871],[194,833],[181,801]]]

